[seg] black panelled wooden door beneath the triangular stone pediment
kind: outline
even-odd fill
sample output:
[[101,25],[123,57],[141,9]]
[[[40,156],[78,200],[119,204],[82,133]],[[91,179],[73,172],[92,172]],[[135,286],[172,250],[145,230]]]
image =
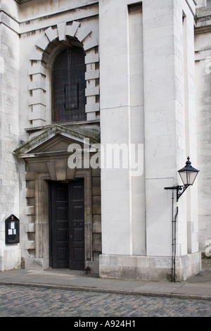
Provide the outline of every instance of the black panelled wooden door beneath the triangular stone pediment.
[[84,269],[84,182],[51,182],[52,268]]

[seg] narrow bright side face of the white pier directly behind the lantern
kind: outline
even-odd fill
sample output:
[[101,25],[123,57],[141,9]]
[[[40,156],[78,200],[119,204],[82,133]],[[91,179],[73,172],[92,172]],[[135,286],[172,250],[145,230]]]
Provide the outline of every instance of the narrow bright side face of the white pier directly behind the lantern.
[[[184,54],[184,107],[185,107],[185,151],[191,157],[193,167],[198,168],[196,143],[196,87],[194,60],[193,13],[184,6],[183,54]],[[186,192],[187,251],[198,251],[198,178]]]

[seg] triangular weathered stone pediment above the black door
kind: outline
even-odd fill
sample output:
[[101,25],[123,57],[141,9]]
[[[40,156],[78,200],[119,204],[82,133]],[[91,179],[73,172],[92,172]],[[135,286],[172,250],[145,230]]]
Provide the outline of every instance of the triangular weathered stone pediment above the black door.
[[37,137],[23,144],[23,146],[15,149],[13,153],[20,158],[67,154],[70,144],[79,144],[83,149],[84,139],[86,139],[86,142],[89,142],[89,145],[99,143],[97,139],[75,132],[62,125],[53,125],[40,135],[37,135]]

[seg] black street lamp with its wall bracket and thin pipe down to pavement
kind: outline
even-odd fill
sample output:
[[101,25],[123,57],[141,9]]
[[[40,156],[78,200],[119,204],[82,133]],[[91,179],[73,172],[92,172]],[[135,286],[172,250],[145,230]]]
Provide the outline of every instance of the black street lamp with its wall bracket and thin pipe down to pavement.
[[177,185],[173,187],[165,187],[165,189],[172,189],[172,282],[176,282],[176,223],[178,215],[178,206],[177,213],[174,216],[174,190],[177,190],[177,201],[179,200],[181,194],[183,194],[188,186],[193,185],[193,182],[196,180],[196,176],[199,173],[199,170],[195,169],[191,165],[190,158],[188,156],[188,161],[184,168],[178,171],[181,180],[184,185]]

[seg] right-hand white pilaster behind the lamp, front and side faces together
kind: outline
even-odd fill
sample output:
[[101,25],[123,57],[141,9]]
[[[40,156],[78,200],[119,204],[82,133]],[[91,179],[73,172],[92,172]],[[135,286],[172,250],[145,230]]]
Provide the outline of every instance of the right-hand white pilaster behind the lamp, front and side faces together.
[[[143,3],[144,4],[144,3]],[[148,4],[148,2],[147,2]],[[169,256],[172,230],[170,206],[172,191],[162,187],[181,185],[177,170],[184,167],[189,155],[197,168],[196,107],[194,87],[193,2],[156,1],[146,4],[146,65],[144,91],[146,118],[146,226],[149,256]],[[152,11],[151,8],[154,8]],[[143,27],[144,25],[143,6]],[[184,16],[184,23],[182,17]],[[161,20],[162,18],[162,20]],[[153,35],[150,42],[149,33]],[[148,51],[148,53],[147,53]],[[149,53],[150,52],[150,53]],[[148,56],[151,54],[151,56]],[[158,194],[159,192],[159,194]],[[174,194],[174,198],[176,196]],[[179,207],[177,256],[198,251],[197,183],[174,204]]]

